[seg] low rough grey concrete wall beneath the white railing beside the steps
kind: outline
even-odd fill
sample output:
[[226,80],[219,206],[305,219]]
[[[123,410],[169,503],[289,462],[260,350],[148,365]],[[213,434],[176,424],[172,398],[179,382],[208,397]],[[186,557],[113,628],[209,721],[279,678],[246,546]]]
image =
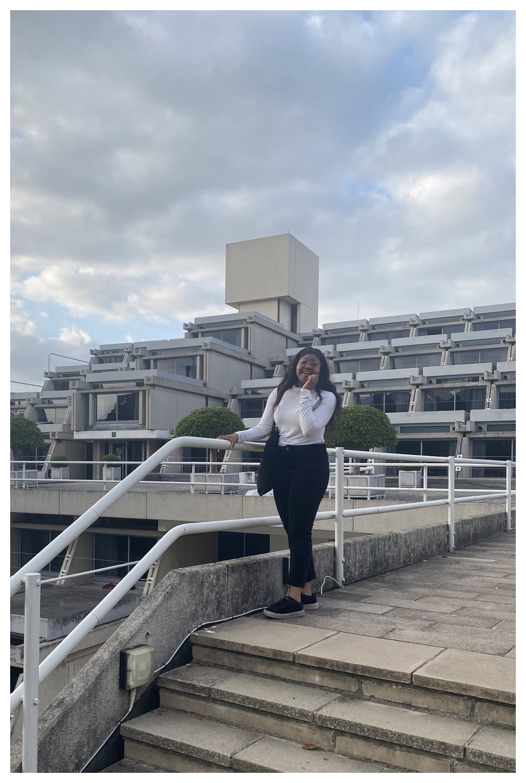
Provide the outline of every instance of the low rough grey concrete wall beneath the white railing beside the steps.
[[[459,522],[459,540],[472,542],[502,532],[505,527],[506,514],[484,514]],[[344,542],[345,579],[352,582],[376,576],[444,554],[447,547],[445,524],[350,539]],[[277,600],[284,589],[285,554],[263,554],[169,572],[42,713],[38,772],[80,771],[128,713],[129,694],[118,687],[122,649],[151,644],[154,669],[161,669],[194,628]],[[314,561],[321,577],[334,576],[332,544],[316,545]],[[319,581],[314,588],[319,590]],[[144,687],[139,695],[155,687]],[[21,743],[17,741],[12,747],[11,770],[20,772],[20,763]]]

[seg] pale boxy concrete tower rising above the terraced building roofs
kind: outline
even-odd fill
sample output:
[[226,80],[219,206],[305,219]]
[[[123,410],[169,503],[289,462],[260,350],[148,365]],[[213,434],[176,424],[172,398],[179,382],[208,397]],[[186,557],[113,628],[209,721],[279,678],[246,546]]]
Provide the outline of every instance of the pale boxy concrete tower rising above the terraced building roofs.
[[292,234],[227,244],[225,302],[293,332],[317,329],[319,261]]

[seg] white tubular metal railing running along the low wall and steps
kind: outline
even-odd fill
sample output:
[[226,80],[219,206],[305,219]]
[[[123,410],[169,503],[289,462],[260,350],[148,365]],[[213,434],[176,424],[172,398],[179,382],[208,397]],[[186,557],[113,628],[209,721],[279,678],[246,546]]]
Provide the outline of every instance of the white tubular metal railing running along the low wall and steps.
[[[13,691],[10,697],[11,713],[22,704],[23,709],[23,729],[22,729],[22,771],[36,772],[38,757],[38,684],[45,680],[50,673],[56,669],[60,663],[66,659],[74,648],[93,630],[124,597],[124,595],[136,584],[144,572],[147,571],[155,561],[182,536],[192,535],[199,532],[219,532],[225,530],[239,530],[252,527],[261,527],[267,525],[280,525],[281,520],[278,516],[257,517],[244,519],[228,519],[221,521],[193,522],[184,525],[177,525],[159,539],[147,554],[133,566],[114,589],[100,601],[91,612],[79,622],[71,633],[65,637],[56,648],[38,666],[39,659],[39,624],[40,624],[40,588],[42,579],[40,572],[42,568],[53,560],[60,552],[74,541],[82,532],[89,528],[101,514],[105,513],[117,500],[122,498],[129,489],[132,489],[147,474],[151,473],[154,467],[158,467],[176,449],[184,446],[194,446],[207,449],[228,449],[228,442],[212,438],[173,438],[172,441],[165,443],[152,456],[148,457],[143,463],[139,464],[132,473],[116,482],[100,500],[97,500],[88,511],[85,511],[77,520],[59,536],[56,536],[44,549],[31,558],[10,580],[11,595],[15,594],[25,586],[25,608],[24,608],[24,681]],[[263,443],[242,443],[234,446],[235,450],[260,451],[263,449]],[[452,552],[455,549],[455,503],[463,503],[470,500],[506,500],[506,530],[511,529],[511,508],[512,496],[515,491],[512,489],[512,473],[515,463],[507,460],[503,463],[501,460],[465,460],[455,456],[417,456],[415,454],[394,454],[381,452],[365,452],[356,450],[347,450],[342,448],[327,449],[329,456],[335,457],[334,479],[335,479],[335,508],[333,511],[321,511],[316,515],[317,520],[335,521],[335,576],[336,581],[344,584],[343,578],[343,520],[344,518],[355,516],[366,516],[368,514],[389,513],[390,511],[404,511],[415,508],[448,505],[448,550]],[[423,500],[417,503],[396,503],[388,506],[366,507],[358,509],[344,508],[344,460],[345,457],[368,459],[368,460],[391,460],[404,463],[414,462],[415,464],[443,464],[448,471],[448,497],[440,500]],[[19,460],[20,462],[21,460]],[[42,460],[41,460],[42,461]],[[502,469],[506,465],[506,489],[501,492],[478,493],[475,495],[455,497],[455,466],[457,463],[476,464],[478,467],[499,467]],[[430,490],[428,489],[428,492]],[[127,564],[132,565],[132,564]],[[122,567],[122,564],[119,564]],[[104,569],[106,570],[106,569]],[[73,576],[73,575],[72,575]],[[49,580],[46,580],[49,581]]]

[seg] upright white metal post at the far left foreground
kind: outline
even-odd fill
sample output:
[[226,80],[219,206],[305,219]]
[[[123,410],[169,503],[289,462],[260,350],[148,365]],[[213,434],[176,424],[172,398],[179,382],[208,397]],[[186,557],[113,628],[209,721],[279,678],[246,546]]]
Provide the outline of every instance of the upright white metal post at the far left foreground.
[[26,574],[24,605],[24,698],[22,704],[22,772],[36,772],[38,760],[38,646],[40,642],[40,574]]

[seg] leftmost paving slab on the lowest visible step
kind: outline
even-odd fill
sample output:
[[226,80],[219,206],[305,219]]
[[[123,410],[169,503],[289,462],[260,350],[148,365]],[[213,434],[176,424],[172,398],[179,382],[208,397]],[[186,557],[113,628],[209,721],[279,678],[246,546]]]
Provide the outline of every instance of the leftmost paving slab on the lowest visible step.
[[254,731],[245,731],[213,720],[198,720],[186,713],[167,709],[155,709],[122,723],[121,734],[125,738],[187,753],[223,766],[229,765],[234,753],[263,736]]

